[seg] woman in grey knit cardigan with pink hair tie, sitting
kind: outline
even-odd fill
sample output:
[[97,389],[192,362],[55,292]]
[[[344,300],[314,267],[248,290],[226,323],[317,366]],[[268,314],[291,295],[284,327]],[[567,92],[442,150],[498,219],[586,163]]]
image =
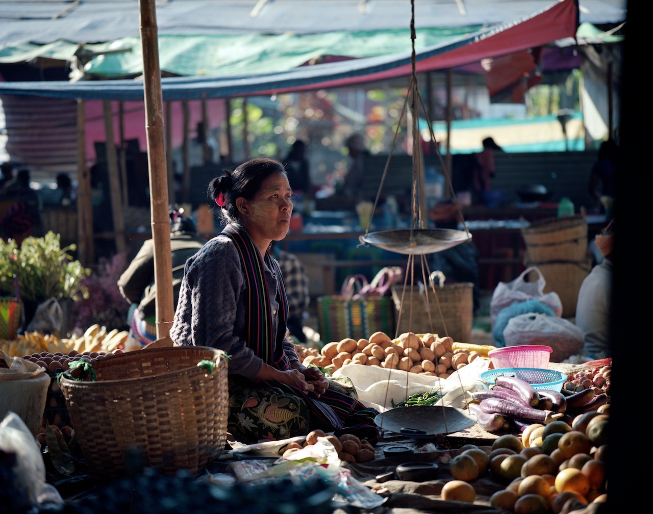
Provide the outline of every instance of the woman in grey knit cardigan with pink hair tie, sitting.
[[229,355],[228,431],[241,442],[354,433],[373,444],[374,409],[355,390],[305,367],[287,336],[287,299],[268,248],[288,232],[293,202],[283,165],[260,157],[212,180],[224,230],[189,258],[170,329],[176,344]]

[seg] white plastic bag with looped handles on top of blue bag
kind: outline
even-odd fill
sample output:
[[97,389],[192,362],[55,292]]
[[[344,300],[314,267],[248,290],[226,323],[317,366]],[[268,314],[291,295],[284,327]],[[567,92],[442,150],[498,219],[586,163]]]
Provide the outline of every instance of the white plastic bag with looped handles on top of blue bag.
[[[526,282],[526,275],[531,271],[535,271],[539,275],[539,279],[535,280],[535,282]],[[560,318],[562,316],[562,301],[560,300],[560,296],[554,291],[545,293],[544,288],[546,285],[547,281],[537,266],[527,267],[517,279],[511,282],[499,282],[496,288],[494,288],[494,292],[492,292],[492,299],[490,299],[490,321],[492,322],[492,327],[494,327],[494,322],[496,322],[496,316],[502,309],[513,305],[517,301],[532,299],[547,305]]]

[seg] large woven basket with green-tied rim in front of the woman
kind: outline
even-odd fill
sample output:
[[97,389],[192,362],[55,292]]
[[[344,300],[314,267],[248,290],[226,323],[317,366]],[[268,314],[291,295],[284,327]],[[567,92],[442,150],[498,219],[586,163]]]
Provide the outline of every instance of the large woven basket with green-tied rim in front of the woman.
[[146,347],[105,357],[93,370],[95,381],[63,376],[60,386],[95,480],[124,476],[125,456],[134,450],[147,467],[195,476],[223,451],[229,392],[220,350]]

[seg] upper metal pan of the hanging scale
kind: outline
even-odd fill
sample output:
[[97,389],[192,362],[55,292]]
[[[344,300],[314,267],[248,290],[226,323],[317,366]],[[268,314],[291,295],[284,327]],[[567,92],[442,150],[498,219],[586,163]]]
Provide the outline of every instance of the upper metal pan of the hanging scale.
[[471,241],[471,234],[464,230],[448,228],[419,228],[404,230],[381,230],[363,234],[358,239],[375,247],[404,255],[425,255],[447,250],[460,243]]

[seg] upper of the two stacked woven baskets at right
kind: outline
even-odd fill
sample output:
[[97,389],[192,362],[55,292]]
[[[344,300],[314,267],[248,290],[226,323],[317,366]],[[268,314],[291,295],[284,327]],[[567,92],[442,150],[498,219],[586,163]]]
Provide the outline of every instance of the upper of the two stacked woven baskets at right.
[[587,252],[587,219],[583,214],[533,222],[522,227],[530,262],[579,261]]

